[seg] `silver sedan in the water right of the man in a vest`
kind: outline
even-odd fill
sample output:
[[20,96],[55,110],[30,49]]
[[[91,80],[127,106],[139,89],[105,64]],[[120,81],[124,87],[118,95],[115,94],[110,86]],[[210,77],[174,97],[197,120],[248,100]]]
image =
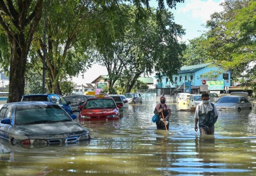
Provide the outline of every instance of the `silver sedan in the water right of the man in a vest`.
[[230,95],[221,97],[215,104],[218,110],[251,110],[252,104],[244,96]]

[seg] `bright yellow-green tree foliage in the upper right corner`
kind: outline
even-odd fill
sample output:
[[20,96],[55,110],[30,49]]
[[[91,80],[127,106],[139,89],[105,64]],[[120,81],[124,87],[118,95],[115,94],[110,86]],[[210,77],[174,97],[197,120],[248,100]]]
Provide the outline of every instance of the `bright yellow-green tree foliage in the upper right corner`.
[[256,58],[256,1],[226,0],[221,5],[224,11],[212,14],[206,23],[210,30],[203,44],[215,63],[231,70],[233,77],[241,77],[245,70],[253,73],[256,68],[250,68],[250,63]]

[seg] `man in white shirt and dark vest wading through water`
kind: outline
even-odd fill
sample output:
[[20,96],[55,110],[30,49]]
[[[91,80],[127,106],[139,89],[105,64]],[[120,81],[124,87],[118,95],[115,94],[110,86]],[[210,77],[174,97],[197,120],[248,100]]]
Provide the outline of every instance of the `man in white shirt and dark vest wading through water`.
[[200,134],[214,134],[214,124],[218,119],[219,111],[209,102],[209,94],[202,93],[202,102],[196,107],[195,112],[195,131],[198,131],[199,121]]

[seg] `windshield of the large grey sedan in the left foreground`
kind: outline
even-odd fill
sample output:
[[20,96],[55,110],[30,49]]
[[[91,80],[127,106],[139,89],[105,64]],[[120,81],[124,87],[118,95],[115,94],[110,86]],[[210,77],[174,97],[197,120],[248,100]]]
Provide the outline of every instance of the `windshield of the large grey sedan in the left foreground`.
[[15,108],[15,125],[72,121],[58,105],[28,105]]

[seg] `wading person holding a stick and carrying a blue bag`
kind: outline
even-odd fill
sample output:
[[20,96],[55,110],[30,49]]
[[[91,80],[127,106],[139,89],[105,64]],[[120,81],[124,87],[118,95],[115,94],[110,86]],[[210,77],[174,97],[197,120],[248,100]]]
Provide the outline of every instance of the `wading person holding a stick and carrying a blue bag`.
[[[156,105],[154,114],[159,116],[158,121],[156,121],[156,128],[165,130],[164,121],[167,121],[168,124],[166,125],[166,128],[167,128],[167,130],[169,130],[169,119],[171,117],[171,108],[170,108],[170,106],[165,104],[164,96],[162,96],[160,98],[160,103]],[[162,117],[162,114],[164,114],[164,118]]]

